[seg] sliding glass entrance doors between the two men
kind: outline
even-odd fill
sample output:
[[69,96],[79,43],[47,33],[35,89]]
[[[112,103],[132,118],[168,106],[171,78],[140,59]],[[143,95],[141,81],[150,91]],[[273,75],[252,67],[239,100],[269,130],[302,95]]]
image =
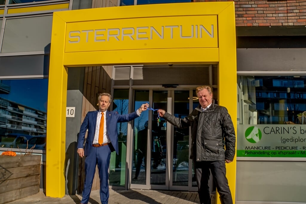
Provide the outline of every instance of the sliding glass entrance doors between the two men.
[[[135,90],[134,109],[148,102],[153,109],[184,118],[194,106],[193,94],[192,90]],[[173,127],[158,119],[157,111],[145,111],[135,119],[131,188],[196,190],[192,187],[189,135],[190,128]]]

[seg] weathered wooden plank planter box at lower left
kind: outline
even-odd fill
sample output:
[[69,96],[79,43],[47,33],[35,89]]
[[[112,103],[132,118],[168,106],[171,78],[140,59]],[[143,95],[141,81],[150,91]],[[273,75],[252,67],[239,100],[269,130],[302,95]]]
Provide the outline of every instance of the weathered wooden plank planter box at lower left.
[[0,203],[39,192],[41,155],[0,156]]

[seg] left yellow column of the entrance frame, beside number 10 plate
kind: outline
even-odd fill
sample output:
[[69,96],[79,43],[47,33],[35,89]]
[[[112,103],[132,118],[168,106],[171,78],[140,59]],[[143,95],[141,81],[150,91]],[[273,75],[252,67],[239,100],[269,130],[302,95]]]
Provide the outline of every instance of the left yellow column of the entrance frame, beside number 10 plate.
[[46,195],[65,195],[67,70],[63,66],[66,22],[53,14],[47,109]]

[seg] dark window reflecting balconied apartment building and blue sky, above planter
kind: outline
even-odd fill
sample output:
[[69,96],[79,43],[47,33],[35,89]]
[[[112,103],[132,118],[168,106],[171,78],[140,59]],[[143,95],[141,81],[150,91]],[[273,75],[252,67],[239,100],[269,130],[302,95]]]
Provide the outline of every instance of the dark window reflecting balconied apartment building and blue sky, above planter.
[[48,79],[0,80],[0,147],[45,150],[47,95]]

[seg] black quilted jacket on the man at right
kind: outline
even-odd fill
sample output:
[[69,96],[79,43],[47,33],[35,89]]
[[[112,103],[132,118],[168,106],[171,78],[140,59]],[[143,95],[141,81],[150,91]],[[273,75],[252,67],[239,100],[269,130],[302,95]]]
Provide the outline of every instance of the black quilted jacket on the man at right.
[[236,136],[232,119],[227,109],[212,102],[211,106],[201,110],[195,108],[184,119],[165,113],[164,118],[178,128],[191,126],[191,155],[196,161],[233,160],[235,156]]

